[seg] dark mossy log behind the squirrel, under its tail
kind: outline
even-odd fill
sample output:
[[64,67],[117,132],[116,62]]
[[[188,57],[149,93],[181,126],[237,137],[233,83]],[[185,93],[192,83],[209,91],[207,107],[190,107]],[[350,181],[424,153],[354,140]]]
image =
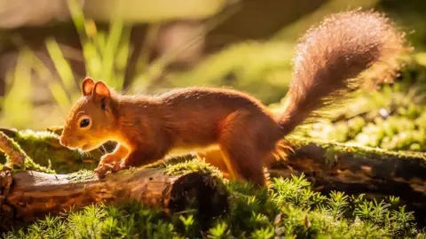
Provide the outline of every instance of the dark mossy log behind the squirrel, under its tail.
[[426,154],[396,152],[340,143],[296,143],[284,164],[270,168],[271,176],[304,173],[313,189],[370,198],[396,196],[426,223]]

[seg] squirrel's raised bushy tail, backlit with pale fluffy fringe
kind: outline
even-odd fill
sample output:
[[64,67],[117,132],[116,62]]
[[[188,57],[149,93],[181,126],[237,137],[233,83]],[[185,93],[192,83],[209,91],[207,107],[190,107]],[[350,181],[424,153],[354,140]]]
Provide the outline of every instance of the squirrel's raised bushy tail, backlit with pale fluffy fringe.
[[336,13],[309,29],[293,62],[293,79],[280,116],[283,134],[359,89],[366,70],[379,77],[396,73],[398,58],[406,50],[410,48],[405,35],[378,12]]

